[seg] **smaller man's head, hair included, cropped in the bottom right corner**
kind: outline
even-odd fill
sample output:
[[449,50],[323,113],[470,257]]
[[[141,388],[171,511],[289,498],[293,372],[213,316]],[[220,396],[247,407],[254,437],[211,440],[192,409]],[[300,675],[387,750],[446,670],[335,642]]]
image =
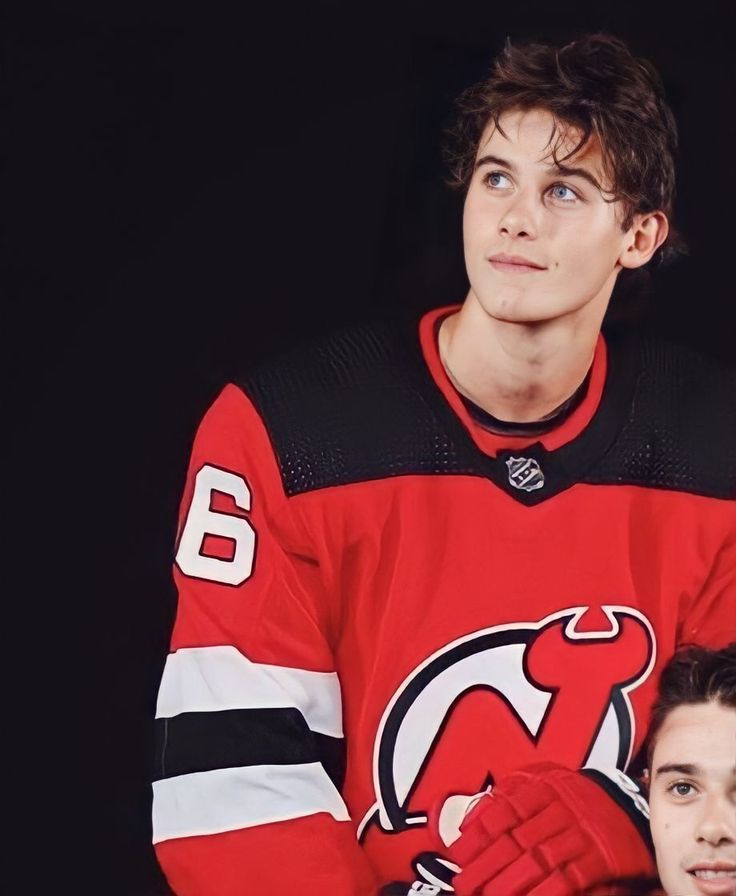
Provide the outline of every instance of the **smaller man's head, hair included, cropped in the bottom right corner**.
[[663,673],[649,808],[667,896],[736,896],[736,643],[692,648]]

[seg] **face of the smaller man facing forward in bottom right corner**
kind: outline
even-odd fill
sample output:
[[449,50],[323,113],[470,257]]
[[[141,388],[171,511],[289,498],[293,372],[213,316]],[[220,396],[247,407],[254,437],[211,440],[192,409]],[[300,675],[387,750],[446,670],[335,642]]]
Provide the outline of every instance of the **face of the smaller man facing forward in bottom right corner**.
[[736,710],[678,706],[651,764],[652,838],[668,896],[736,896]]

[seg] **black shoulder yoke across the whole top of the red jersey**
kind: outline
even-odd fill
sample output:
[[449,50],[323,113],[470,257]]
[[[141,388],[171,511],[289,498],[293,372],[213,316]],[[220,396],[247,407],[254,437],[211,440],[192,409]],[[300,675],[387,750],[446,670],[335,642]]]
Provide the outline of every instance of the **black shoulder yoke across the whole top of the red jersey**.
[[[547,451],[480,451],[437,388],[417,321],[340,330],[236,383],[259,411],[289,496],[402,475],[480,476],[523,504],[577,482],[736,497],[736,371],[636,332],[604,331],[608,371],[593,420]],[[510,482],[522,454],[544,486]]]

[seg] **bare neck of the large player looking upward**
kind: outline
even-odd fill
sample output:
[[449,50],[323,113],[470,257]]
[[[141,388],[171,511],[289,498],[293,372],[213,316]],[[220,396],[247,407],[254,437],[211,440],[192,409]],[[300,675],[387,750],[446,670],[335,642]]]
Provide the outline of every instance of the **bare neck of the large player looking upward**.
[[517,323],[488,315],[472,290],[440,327],[440,358],[455,388],[499,420],[551,414],[585,379],[601,318]]

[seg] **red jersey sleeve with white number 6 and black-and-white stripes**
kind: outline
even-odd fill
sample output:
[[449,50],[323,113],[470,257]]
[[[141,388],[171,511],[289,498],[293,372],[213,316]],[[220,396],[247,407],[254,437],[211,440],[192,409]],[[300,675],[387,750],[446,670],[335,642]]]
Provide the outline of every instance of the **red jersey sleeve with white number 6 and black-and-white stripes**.
[[156,708],[153,839],[178,896],[377,891],[340,793],[335,589],[303,529],[227,386],[192,450]]

